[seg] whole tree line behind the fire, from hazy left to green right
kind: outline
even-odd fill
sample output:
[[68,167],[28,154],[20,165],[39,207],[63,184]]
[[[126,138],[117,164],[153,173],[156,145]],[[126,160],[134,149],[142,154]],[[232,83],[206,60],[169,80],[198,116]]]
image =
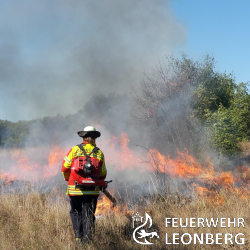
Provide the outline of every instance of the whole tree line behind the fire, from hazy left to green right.
[[[185,54],[170,56],[129,95],[95,96],[73,115],[0,120],[0,147],[63,141],[63,134],[97,123],[114,134],[127,130],[135,140],[147,131],[148,146],[162,152],[174,154],[187,148],[199,155],[213,149],[237,155],[239,143],[250,140],[248,91],[247,83],[236,83],[232,74],[218,72],[210,55],[199,61]],[[135,126],[138,132],[130,132]],[[31,139],[34,137],[37,140]]]

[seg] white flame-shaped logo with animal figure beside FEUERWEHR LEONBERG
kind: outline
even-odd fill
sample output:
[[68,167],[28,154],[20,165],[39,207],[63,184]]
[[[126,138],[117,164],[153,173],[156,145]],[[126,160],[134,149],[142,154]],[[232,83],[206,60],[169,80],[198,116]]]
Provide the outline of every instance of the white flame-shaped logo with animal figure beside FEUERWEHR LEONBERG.
[[[140,216],[138,212],[132,218],[133,218],[133,228],[135,227],[135,222],[143,223],[143,217]],[[145,227],[148,222],[149,222],[148,228],[150,228],[153,224],[152,218],[150,217],[150,215],[148,213],[145,212],[145,222],[142,225],[138,226],[133,232],[133,239],[135,242],[142,244],[142,245],[152,245],[155,243],[151,243],[151,242],[147,241],[146,238],[147,237],[149,237],[150,239],[152,239],[154,237],[159,238],[159,235],[157,234],[157,232],[146,232],[144,229],[141,229],[142,227]],[[139,229],[140,229],[140,231],[139,231]],[[138,239],[144,238],[144,242],[139,241],[136,237]]]

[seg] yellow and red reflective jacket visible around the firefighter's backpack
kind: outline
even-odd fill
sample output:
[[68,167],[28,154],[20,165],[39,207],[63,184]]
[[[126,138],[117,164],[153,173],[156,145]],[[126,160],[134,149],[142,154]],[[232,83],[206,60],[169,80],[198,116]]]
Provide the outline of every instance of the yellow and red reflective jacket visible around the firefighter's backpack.
[[[86,141],[83,143],[83,147],[86,151],[87,154],[91,153],[92,150],[95,148],[96,145],[90,144]],[[77,195],[99,195],[99,188],[96,190],[80,190],[78,188],[75,188],[75,183],[73,180],[72,175],[70,175],[71,172],[71,165],[72,162],[78,158],[84,156],[84,152],[78,147],[74,146],[70,149],[68,154],[64,157],[63,164],[62,164],[62,174],[63,177],[66,181],[68,181],[68,188],[67,188],[67,193],[66,195],[70,196],[77,196]],[[102,151],[99,149],[95,153],[91,153],[90,157],[95,158],[98,160],[100,166],[101,166],[101,171],[100,171],[100,179],[105,179],[107,175],[107,170],[105,166],[105,160],[104,160],[104,155]]]

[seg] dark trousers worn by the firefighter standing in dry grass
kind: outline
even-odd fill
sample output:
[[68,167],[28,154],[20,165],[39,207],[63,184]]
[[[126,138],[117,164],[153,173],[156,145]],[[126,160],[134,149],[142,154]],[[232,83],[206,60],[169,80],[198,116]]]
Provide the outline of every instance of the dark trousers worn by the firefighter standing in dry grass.
[[95,231],[97,195],[70,196],[70,217],[76,238],[83,242],[92,239]]

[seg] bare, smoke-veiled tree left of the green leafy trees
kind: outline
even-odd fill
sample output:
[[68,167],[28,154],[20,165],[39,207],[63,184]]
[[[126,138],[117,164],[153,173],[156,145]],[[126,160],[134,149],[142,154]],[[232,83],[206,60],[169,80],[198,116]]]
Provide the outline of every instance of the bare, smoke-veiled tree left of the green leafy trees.
[[188,148],[196,151],[197,136],[202,134],[191,106],[204,64],[189,59],[167,57],[152,76],[146,76],[139,89],[133,90],[137,115],[153,131],[151,146],[170,154]]

